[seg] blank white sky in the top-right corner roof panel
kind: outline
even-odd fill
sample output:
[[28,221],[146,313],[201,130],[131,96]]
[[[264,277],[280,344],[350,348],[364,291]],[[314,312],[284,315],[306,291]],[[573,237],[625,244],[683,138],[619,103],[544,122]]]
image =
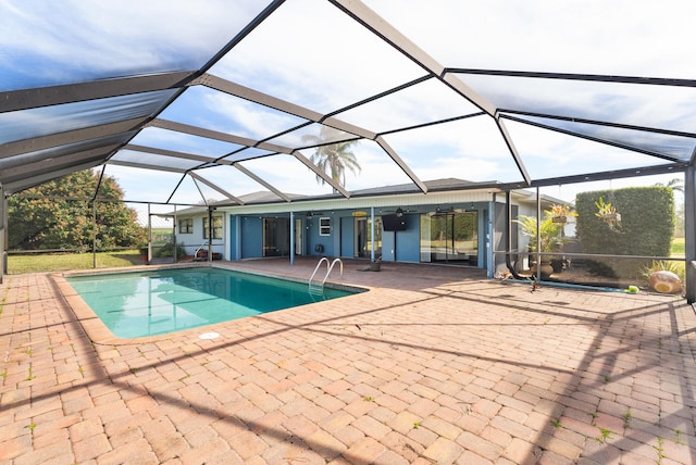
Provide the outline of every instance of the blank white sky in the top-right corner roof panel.
[[689,0],[365,3],[446,66],[696,77]]

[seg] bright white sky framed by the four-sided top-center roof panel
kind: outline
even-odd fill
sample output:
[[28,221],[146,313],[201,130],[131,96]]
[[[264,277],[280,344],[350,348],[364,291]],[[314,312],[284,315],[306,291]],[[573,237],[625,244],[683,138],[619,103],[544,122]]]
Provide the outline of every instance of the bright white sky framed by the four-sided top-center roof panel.
[[321,112],[425,74],[322,0],[285,2],[212,72]]

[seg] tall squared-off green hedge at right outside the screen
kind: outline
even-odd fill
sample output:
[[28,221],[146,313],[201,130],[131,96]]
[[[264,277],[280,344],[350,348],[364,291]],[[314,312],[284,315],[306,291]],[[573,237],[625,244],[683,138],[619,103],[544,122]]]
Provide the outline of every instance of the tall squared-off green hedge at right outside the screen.
[[[595,202],[604,199],[621,214],[621,223],[610,228],[598,218]],[[631,187],[581,192],[575,198],[577,238],[583,252],[613,255],[669,256],[674,236],[674,196],[663,186]],[[611,276],[638,276],[650,261],[597,260],[595,271]]]

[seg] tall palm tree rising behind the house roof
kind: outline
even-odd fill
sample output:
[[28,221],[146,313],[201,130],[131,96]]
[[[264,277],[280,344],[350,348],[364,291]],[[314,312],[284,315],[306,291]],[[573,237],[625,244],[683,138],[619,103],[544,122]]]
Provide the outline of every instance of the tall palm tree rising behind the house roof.
[[[312,143],[323,143],[331,139],[331,131],[335,131],[335,129],[322,126],[319,136],[307,135],[302,139]],[[327,173],[340,187],[346,187],[346,169],[350,169],[352,173],[359,173],[362,169],[356,154],[350,150],[357,143],[357,140],[350,140],[319,146],[314,149],[310,161],[321,171]],[[325,180],[319,175],[316,181],[325,184]]]

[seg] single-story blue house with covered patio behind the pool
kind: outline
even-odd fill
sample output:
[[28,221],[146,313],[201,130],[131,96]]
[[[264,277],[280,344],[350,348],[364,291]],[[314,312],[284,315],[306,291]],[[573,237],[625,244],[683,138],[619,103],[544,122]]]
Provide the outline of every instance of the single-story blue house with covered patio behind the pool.
[[[224,260],[295,255],[381,259],[384,262],[442,263],[488,269],[506,267],[506,196],[498,189],[471,189],[459,179],[426,183],[428,193],[383,194],[383,189],[285,202],[272,192],[241,196],[245,204],[217,202],[176,212],[176,241],[188,254],[212,250]],[[467,186],[465,190],[452,186]],[[389,187],[394,191],[394,187]],[[544,199],[547,208],[552,199]],[[536,198],[514,191],[512,214],[533,215]],[[526,239],[512,227],[512,250]],[[495,254],[494,254],[495,250]]]

